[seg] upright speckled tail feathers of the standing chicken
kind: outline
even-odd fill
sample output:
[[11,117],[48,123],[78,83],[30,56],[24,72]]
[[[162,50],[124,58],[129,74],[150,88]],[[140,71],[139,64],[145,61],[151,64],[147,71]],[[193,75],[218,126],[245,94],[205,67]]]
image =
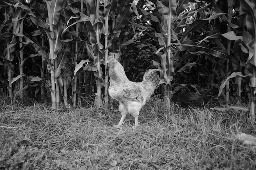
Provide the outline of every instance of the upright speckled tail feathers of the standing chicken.
[[159,75],[157,75],[156,71],[162,72],[159,69],[149,69],[143,76],[143,82],[151,85],[153,87],[153,90],[158,88],[160,81]]

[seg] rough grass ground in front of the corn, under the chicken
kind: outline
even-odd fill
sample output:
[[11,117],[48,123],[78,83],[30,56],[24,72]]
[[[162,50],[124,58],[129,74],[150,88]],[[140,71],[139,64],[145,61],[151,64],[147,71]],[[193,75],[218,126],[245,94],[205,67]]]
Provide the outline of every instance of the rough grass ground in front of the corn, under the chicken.
[[53,111],[47,104],[0,105],[0,170],[254,170],[256,147],[234,138],[256,135],[245,112],[210,108],[170,111],[159,98],[141,110],[140,126],[115,128],[106,107]]

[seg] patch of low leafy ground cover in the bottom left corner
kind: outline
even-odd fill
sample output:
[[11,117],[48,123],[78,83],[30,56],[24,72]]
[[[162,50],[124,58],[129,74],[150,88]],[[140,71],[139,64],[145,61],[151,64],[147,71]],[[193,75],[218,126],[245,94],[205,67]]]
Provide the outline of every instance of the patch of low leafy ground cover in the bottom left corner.
[[77,168],[78,163],[70,163],[68,160],[61,159],[61,157],[59,157],[56,153],[52,151],[38,149],[37,147],[33,146],[23,146],[22,144],[20,144],[26,142],[28,142],[27,139],[11,142],[9,144],[1,143],[1,169],[72,170],[87,168],[87,166],[82,165],[82,162],[80,162],[79,168]]

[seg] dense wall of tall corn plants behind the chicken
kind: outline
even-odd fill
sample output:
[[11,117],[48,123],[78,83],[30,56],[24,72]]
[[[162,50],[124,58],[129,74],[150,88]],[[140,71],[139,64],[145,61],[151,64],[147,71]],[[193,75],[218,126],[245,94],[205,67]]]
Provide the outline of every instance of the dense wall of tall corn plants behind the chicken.
[[107,104],[115,57],[132,81],[162,69],[167,104],[221,97],[249,102],[254,119],[255,11],[253,0],[2,0],[1,91],[51,96],[52,108],[92,95]]

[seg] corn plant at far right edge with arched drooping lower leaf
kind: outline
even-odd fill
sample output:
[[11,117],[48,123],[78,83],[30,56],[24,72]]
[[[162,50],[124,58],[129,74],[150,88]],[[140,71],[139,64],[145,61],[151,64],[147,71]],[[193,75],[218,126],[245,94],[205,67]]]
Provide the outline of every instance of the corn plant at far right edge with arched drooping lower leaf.
[[[230,23],[233,28],[232,31],[222,35],[228,40],[236,41],[234,45],[236,49],[234,49],[234,51],[236,52],[235,54],[239,55],[238,60],[240,60],[240,66],[244,68],[244,72],[242,72],[239,66],[239,69],[236,69],[238,72],[232,73],[223,80],[218,96],[220,96],[224,86],[229,84],[231,79],[236,78],[240,81],[239,79],[242,78],[249,99],[251,120],[254,122],[256,89],[256,4],[248,0],[237,0],[235,1],[234,7],[236,7],[235,5],[237,4],[239,4],[239,8],[236,9],[240,13],[240,15],[237,16],[238,20],[234,23]],[[240,30],[242,30],[242,33],[240,33]]]

